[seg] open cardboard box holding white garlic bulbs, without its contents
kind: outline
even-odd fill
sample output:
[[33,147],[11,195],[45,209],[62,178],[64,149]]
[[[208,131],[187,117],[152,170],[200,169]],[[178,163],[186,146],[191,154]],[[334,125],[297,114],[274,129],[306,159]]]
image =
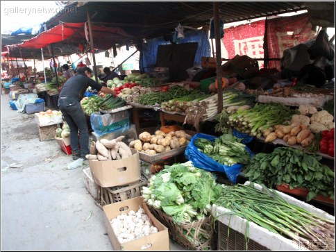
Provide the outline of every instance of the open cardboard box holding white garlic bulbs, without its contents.
[[[129,211],[139,210],[139,206],[141,206],[146,215],[149,216],[149,219],[153,222],[153,225],[158,228],[158,233],[154,233],[130,242],[120,243],[115,235],[112,225],[110,221],[115,219],[118,215],[122,213],[127,214]],[[147,205],[144,203],[142,197],[137,197],[133,199],[128,199],[127,201],[121,201],[117,203],[113,203],[110,205],[103,206],[104,211],[104,221],[106,230],[108,231],[108,237],[110,237],[110,241],[112,243],[113,249],[115,251],[141,251],[141,250],[148,250],[148,251],[169,251],[169,234],[168,228],[163,226],[156,217],[154,217]],[[146,244],[151,244],[151,247],[148,249],[142,249],[142,246]]]

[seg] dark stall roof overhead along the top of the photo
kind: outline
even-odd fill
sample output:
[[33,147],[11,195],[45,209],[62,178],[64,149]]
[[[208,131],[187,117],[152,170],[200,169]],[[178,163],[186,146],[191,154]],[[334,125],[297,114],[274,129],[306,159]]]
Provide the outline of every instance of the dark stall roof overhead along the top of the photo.
[[[86,22],[89,8],[92,22],[120,26],[138,39],[171,34],[180,23],[194,28],[208,26],[213,16],[212,1],[89,1],[73,11],[59,12],[49,19],[47,28],[59,22]],[[87,6],[87,7],[86,7]],[[224,23],[305,10],[303,1],[219,1],[219,15]]]

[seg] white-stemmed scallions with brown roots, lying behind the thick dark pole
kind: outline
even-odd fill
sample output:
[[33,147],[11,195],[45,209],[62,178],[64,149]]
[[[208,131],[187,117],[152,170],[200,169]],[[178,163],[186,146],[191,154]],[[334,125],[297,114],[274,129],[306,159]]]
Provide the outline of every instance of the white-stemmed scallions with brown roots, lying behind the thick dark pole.
[[[223,108],[230,106],[254,106],[255,96],[244,94],[241,90],[228,90],[223,92]],[[185,110],[185,123],[198,128],[199,123],[214,119],[218,115],[218,94],[214,94]]]

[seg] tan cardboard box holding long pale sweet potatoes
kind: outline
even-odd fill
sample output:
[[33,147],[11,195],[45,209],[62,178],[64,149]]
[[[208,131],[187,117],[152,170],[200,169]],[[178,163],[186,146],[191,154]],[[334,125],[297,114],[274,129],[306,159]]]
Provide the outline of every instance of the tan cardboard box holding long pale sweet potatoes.
[[131,150],[133,155],[121,160],[92,161],[90,169],[94,182],[101,187],[128,185],[140,181],[139,153]]

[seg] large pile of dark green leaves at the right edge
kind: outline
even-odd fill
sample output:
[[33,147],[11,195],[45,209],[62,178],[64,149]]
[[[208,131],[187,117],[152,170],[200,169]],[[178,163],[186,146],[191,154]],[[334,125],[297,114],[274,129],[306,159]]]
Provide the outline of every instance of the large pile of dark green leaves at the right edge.
[[250,181],[267,187],[287,183],[290,189],[308,188],[307,201],[317,194],[334,199],[335,174],[319,160],[321,156],[313,156],[300,149],[281,147],[270,154],[255,155],[249,165],[244,167],[244,173]]

